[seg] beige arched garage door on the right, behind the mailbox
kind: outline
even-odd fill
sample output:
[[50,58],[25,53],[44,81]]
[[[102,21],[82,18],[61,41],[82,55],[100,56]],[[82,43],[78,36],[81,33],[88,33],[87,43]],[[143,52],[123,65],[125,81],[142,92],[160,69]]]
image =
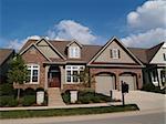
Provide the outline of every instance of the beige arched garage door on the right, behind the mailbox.
[[[125,75],[121,75],[120,76],[120,82],[126,82],[128,84],[128,90],[133,91],[136,87],[136,80],[135,76],[131,75],[131,74],[125,74]],[[120,84],[120,89],[121,89],[121,84]]]

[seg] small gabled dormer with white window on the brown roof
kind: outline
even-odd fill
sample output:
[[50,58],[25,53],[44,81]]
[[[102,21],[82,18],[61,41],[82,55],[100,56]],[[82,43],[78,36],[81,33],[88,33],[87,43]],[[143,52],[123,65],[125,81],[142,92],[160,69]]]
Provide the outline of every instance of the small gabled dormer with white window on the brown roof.
[[81,59],[81,49],[82,49],[81,43],[79,43],[76,40],[73,40],[66,45],[66,48],[69,59]]

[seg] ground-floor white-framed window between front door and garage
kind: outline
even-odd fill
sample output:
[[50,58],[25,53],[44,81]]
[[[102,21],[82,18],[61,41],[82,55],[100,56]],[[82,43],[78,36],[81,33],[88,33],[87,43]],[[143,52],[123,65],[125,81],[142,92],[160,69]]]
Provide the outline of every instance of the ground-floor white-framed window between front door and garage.
[[79,83],[83,80],[79,78],[84,70],[84,65],[66,65],[65,73],[66,73],[66,82],[68,83]]

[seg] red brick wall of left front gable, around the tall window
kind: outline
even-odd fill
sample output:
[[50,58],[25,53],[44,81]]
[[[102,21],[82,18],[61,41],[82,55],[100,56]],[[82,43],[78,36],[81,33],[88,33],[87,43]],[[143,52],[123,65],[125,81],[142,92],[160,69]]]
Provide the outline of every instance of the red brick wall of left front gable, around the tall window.
[[45,83],[45,68],[43,66],[43,62],[46,62],[46,59],[37,50],[33,49],[33,52],[31,49],[29,49],[27,52],[22,54],[22,59],[24,60],[25,64],[39,64],[40,65],[40,80],[39,84],[22,84],[22,85],[14,85],[14,87],[20,86],[21,89],[27,87],[43,87]]

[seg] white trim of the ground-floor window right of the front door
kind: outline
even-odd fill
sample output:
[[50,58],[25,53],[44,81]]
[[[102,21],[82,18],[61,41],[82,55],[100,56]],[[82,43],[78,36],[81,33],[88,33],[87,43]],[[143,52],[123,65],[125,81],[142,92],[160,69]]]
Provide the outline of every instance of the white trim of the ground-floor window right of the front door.
[[[81,69],[82,68],[82,69]],[[71,71],[71,75],[73,74],[73,71],[77,71],[80,74],[80,71],[83,71],[85,69],[84,65],[65,65],[65,83],[66,84],[79,84],[80,79],[77,79],[77,82],[73,82],[73,76],[71,76],[71,82],[68,82],[68,71]]]

